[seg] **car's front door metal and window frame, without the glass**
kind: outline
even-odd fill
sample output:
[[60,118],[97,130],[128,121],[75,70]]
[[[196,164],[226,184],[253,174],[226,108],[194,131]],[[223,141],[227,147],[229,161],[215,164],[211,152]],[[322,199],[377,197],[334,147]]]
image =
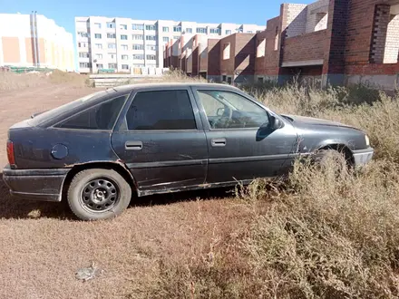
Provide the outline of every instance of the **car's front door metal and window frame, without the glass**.
[[[205,109],[199,101],[198,92],[204,90],[212,90],[212,88],[193,87],[208,142],[207,184],[276,177],[287,173],[297,153],[295,128],[289,123],[284,123],[283,128],[278,130],[269,128],[211,129]],[[251,99],[245,92],[238,92],[235,89],[228,91],[237,93],[265,110],[265,107]],[[274,113],[273,116],[283,121]],[[224,143],[219,146],[214,144],[214,140],[222,140]]]

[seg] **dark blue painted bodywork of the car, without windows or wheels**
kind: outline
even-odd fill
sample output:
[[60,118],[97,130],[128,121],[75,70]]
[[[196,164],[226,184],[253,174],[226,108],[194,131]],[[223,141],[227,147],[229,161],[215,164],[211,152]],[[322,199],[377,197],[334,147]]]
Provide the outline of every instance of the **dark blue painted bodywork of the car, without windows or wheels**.
[[[137,92],[181,89],[190,94],[197,130],[127,130],[125,114]],[[282,126],[210,130],[196,93],[201,89],[237,92],[256,102]],[[127,99],[112,130],[54,127],[78,111],[121,95]],[[138,195],[146,196],[278,176],[287,173],[297,156],[311,155],[330,145],[351,150],[356,165],[364,165],[374,154],[361,130],[332,121],[278,115],[247,93],[225,84],[135,84],[97,92],[80,101],[68,106],[71,110],[36,114],[10,128],[8,137],[14,143],[16,165],[5,168],[4,179],[12,194],[59,201],[69,171],[92,163],[115,163],[129,169]],[[225,140],[226,146],[214,147],[212,140]],[[141,150],[126,150],[128,141],[140,141]]]

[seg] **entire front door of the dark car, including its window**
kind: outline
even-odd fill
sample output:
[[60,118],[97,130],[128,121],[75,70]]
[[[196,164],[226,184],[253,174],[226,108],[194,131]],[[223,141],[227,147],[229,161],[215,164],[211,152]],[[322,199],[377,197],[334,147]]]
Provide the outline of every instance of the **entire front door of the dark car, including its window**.
[[[295,128],[236,89],[194,88],[209,147],[207,183],[275,177],[297,152]],[[282,128],[270,124],[277,117]]]

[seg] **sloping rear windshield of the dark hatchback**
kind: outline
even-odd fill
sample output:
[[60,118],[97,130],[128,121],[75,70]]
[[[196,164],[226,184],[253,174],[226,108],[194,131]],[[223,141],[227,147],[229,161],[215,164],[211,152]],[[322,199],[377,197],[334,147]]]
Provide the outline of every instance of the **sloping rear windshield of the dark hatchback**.
[[53,110],[50,111],[45,111],[43,113],[40,113],[32,120],[29,120],[29,124],[32,126],[38,126],[44,121],[49,121],[54,119],[54,117],[63,114],[64,112],[71,111],[75,108],[78,108],[79,106],[82,106],[84,103],[95,101],[96,99],[102,97],[103,95],[109,93],[109,91],[102,91],[102,92],[94,92],[89,95],[86,95],[82,98],[79,98],[75,101],[70,101],[62,106],[59,106]]

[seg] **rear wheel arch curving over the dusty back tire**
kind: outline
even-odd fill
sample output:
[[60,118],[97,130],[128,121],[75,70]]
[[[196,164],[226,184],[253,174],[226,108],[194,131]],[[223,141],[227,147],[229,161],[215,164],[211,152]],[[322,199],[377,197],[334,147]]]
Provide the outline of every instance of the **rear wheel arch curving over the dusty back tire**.
[[66,194],[68,192],[68,188],[73,180],[73,177],[86,169],[112,169],[118,172],[122,178],[126,179],[126,181],[131,186],[131,192],[137,194],[137,183],[136,180],[131,175],[131,172],[126,168],[122,162],[111,162],[111,161],[96,161],[96,162],[88,162],[83,164],[76,164],[73,166],[71,170],[68,171],[66,177],[63,179],[63,186],[60,194],[60,201],[63,198],[66,198]]

